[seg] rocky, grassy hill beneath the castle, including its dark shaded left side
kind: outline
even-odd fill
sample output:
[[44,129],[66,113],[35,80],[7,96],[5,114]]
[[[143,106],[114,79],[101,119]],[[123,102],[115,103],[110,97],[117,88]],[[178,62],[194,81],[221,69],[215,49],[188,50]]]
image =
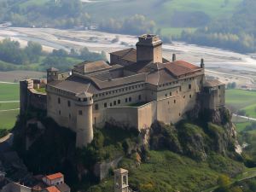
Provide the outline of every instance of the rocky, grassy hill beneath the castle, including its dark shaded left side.
[[[221,113],[221,119],[217,113]],[[177,125],[155,122],[149,135],[107,124],[96,129],[87,148],[78,150],[71,131],[45,118],[44,113],[27,113],[15,125],[15,149],[31,172],[63,172],[73,189],[111,192],[111,169],[99,183],[95,165],[123,156],[119,166],[130,171],[132,189],[198,191],[215,186],[222,174],[236,177],[245,168],[235,152],[236,131],[228,111],[207,114],[200,116],[200,121],[186,120]],[[42,122],[44,130],[27,124],[34,118]],[[215,124],[207,123],[212,120]],[[25,150],[27,139],[32,145]]]

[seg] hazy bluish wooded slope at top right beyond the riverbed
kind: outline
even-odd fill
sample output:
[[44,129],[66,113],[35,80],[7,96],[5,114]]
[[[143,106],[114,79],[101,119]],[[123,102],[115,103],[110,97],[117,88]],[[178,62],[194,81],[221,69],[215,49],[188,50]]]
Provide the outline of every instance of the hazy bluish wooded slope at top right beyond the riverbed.
[[183,31],[181,40],[192,44],[232,49],[241,53],[256,50],[256,1],[244,0],[230,19],[212,20],[195,32]]

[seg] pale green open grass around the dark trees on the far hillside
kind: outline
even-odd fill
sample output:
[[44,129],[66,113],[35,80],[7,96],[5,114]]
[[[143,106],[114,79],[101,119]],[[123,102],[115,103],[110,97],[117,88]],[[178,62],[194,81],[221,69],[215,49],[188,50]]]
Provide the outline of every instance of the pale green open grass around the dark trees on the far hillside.
[[[172,28],[171,18],[176,11],[196,12],[202,11],[212,19],[230,17],[241,0],[230,0],[224,6],[224,0],[131,0],[131,1],[101,1],[100,3],[87,3],[86,11],[96,20],[102,18],[122,18],[135,14],[145,15],[156,21],[162,28],[163,34],[178,35],[184,28]],[[101,10],[101,14],[97,14]],[[191,30],[189,28],[189,30]],[[195,30],[195,29],[192,29]]]

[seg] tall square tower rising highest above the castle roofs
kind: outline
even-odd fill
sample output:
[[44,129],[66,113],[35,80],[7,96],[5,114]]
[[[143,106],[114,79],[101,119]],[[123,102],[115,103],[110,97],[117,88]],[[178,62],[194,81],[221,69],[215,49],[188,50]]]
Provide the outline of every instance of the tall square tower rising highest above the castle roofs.
[[137,61],[163,62],[162,41],[157,35],[142,35],[137,46]]

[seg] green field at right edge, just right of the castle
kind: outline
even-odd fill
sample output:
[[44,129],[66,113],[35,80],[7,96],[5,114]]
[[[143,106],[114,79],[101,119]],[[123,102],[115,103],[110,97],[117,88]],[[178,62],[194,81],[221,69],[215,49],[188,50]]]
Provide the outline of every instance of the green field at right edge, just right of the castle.
[[226,104],[236,111],[245,110],[247,115],[256,118],[256,91],[226,90]]

